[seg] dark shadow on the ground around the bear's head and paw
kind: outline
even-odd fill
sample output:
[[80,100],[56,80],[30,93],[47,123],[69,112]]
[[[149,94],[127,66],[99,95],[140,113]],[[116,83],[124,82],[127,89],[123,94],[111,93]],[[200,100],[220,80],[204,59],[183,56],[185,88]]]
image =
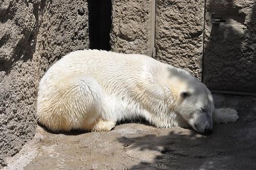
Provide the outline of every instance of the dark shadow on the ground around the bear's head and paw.
[[253,169],[256,167],[256,101],[253,97],[214,95],[216,107],[239,111],[236,123],[218,124],[210,136],[194,131],[119,138],[128,150],[158,151],[152,162],[131,169]]

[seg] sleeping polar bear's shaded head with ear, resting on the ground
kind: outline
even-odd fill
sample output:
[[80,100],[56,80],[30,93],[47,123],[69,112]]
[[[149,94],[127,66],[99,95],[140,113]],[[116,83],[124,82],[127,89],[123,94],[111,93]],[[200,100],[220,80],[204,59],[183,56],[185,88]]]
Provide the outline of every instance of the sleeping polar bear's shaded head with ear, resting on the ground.
[[214,102],[211,92],[203,83],[197,86],[180,92],[178,110],[195,131],[208,134],[213,129]]

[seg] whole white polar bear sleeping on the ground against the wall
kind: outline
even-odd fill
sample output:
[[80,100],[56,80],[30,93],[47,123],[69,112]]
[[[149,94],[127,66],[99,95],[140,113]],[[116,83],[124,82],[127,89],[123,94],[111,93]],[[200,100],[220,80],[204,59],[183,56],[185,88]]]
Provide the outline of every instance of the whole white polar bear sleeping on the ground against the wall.
[[235,122],[234,109],[215,109],[211,92],[190,73],[140,54],[71,52],[40,81],[37,120],[51,131],[110,131],[117,121],[146,119],[157,128]]

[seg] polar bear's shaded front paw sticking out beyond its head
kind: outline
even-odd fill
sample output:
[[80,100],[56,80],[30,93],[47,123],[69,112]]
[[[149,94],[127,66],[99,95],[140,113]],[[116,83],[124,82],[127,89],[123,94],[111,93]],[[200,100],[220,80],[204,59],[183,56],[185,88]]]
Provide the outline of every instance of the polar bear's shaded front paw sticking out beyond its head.
[[233,123],[238,120],[238,112],[234,109],[215,109],[212,115],[214,123]]

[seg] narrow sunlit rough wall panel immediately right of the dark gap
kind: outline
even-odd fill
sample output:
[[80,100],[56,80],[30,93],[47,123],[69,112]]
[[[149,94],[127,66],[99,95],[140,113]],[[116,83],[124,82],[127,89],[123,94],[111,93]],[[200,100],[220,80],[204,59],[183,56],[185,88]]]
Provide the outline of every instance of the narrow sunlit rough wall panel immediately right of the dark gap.
[[111,51],[149,54],[150,1],[113,0]]

